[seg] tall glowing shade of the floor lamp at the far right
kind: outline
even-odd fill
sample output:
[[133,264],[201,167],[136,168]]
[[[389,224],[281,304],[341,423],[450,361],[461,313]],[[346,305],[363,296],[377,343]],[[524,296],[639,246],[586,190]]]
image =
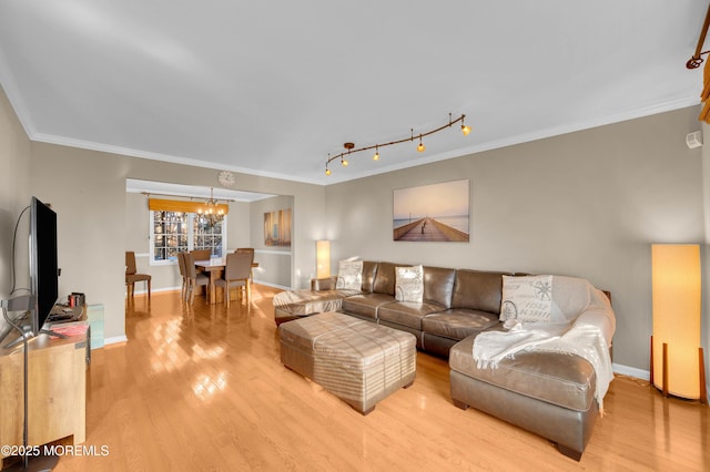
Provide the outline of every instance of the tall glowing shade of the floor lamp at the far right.
[[700,246],[655,244],[651,265],[653,384],[676,397],[699,399]]

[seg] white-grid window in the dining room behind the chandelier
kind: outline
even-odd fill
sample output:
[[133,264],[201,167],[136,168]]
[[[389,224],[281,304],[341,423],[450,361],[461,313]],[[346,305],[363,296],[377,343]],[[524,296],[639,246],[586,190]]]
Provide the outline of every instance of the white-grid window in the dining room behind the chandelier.
[[211,249],[212,257],[222,257],[226,240],[226,216],[210,225],[203,215],[187,212],[151,211],[151,265],[176,261],[178,253]]

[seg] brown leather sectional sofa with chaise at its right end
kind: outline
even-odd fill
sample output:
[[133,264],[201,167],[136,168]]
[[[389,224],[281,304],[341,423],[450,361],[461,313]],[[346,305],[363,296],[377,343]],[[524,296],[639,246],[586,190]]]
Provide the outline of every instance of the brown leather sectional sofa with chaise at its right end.
[[[412,332],[419,350],[449,359],[454,404],[473,406],[532,431],[579,460],[599,415],[590,362],[564,352],[537,351],[504,359],[496,369],[480,368],[474,360],[476,336],[504,330],[499,321],[503,276],[514,274],[425,266],[419,304],[395,300],[397,266],[364,261],[361,293],[344,293],[338,311]],[[316,280],[312,288],[303,291],[308,294],[308,309],[317,311],[312,300],[320,290],[327,294],[332,309],[333,299],[338,298],[335,278]],[[300,308],[275,302],[276,322],[312,315]]]

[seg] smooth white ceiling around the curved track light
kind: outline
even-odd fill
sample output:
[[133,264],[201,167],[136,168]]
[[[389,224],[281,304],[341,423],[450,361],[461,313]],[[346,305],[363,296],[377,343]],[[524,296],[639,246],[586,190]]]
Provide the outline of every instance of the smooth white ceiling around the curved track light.
[[697,104],[707,7],[2,0],[0,84],[34,141],[328,184]]

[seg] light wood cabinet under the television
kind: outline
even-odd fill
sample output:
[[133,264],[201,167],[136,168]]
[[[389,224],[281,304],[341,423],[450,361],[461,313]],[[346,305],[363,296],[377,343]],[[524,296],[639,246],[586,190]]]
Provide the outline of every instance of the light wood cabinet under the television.
[[[87,438],[87,366],[90,353],[88,322],[82,335],[51,339],[41,335],[28,350],[28,445],[42,445],[67,437],[73,444]],[[0,349],[0,444],[22,445],[22,345]],[[2,454],[0,454],[2,456]]]

